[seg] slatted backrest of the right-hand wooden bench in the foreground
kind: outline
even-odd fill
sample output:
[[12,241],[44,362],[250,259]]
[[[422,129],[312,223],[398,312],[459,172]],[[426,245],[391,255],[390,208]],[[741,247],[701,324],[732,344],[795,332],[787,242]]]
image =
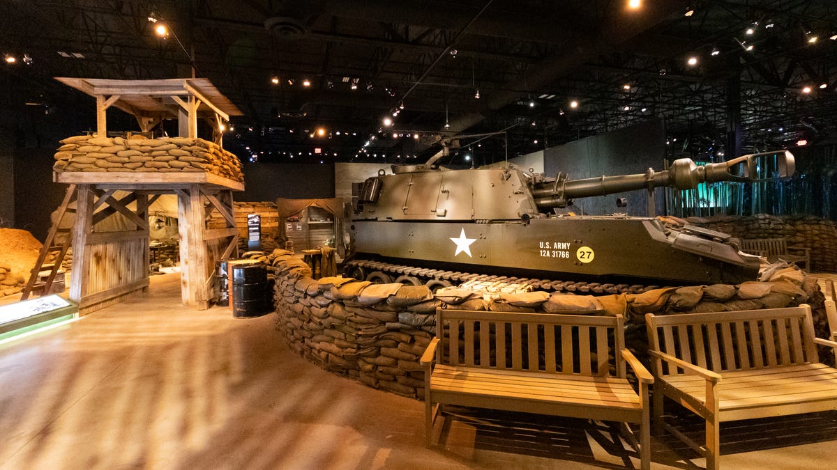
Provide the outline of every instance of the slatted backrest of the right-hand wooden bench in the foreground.
[[[649,347],[714,372],[819,362],[807,304],[707,314],[646,314]],[[652,358],[660,375],[682,370]]]

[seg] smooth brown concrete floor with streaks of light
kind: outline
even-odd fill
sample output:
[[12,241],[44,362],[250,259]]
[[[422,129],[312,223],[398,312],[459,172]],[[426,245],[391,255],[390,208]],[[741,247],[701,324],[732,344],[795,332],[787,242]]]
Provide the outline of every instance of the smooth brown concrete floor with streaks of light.
[[[149,294],[0,345],[0,468],[639,466],[595,423],[467,410],[425,449],[423,403],[301,359],[273,314],[185,308],[179,289],[156,276]],[[652,467],[703,466],[653,444]],[[837,413],[722,427],[721,450],[727,468],[832,467]]]

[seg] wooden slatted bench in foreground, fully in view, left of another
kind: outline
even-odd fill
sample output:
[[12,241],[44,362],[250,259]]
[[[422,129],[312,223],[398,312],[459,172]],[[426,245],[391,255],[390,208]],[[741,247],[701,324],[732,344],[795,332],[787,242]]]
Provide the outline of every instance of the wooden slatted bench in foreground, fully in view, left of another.
[[[625,364],[639,380],[639,393]],[[443,405],[621,421],[650,467],[650,372],[624,349],[619,316],[436,310],[425,367],[425,439]],[[639,442],[627,423],[638,423]]]

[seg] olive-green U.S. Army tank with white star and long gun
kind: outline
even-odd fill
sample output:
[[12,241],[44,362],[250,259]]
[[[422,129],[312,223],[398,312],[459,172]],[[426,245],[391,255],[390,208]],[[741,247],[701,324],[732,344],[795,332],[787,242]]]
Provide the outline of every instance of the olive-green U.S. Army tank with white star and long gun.
[[[348,276],[438,289],[477,276],[537,289],[641,292],[657,285],[739,284],[757,278],[759,258],[737,239],[701,227],[666,227],[655,217],[562,215],[574,198],[701,182],[793,175],[789,151],[664,171],[570,180],[511,164],[466,170],[393,166],[362,183],[353,207]],[[768,165],[769,164],[769,165]],[[653,212],[650,212],[653,213]],[[567,280],[571,279],[571,280]]]

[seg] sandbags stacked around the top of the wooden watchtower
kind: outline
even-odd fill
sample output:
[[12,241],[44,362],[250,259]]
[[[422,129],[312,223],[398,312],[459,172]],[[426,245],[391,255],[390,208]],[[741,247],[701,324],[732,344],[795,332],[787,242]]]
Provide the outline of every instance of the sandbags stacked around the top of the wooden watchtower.
[[203,139],[75,135],[61,143],[55,152],[54,171],[193,171],[244,181],[239,159]]

